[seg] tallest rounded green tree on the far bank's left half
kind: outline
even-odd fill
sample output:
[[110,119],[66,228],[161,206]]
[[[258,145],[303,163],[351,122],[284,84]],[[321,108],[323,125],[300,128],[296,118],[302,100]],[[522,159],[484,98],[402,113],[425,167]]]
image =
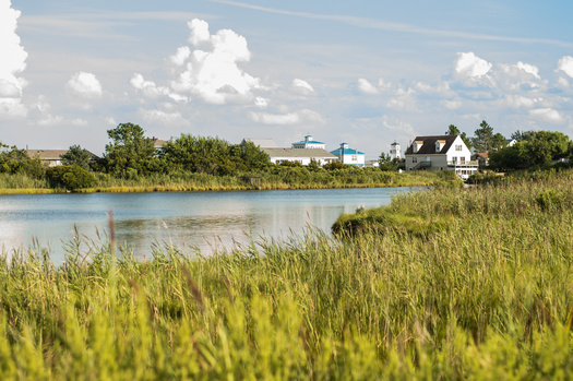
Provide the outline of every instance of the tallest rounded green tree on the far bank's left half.
[[133,123],[120,123],[107,134],[111,143],[106,145],[104,165],[108,172],[122,177],[148,175],[160,169],[153,141],[143,129]]

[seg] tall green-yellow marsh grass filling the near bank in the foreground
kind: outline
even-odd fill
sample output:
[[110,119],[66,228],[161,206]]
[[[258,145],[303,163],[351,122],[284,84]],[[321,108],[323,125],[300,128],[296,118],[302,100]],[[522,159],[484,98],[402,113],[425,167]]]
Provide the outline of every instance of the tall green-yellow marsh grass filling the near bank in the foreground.
[[77,237],[60,267],[16,254],[0,262],[0,377],[566,379],[572,182],[438,189],[382,210],[447,222],[431,231],[365,224],[342,241],[155,247],[144,262]]

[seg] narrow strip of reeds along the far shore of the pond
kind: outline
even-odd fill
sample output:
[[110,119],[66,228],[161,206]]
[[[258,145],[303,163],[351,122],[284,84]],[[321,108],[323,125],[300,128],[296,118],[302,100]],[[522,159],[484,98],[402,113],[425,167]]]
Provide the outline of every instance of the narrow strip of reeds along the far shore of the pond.
[[[106,174],[96,175],[92,188],[75,192],[174,192],[174,191],[236,191],[273,189],[326,189],[326,188],[380,188],[419,187],[452,182],[450,174],[442,172],[384,172],[375,168],[324,169],[276,168],[271,172],[248,172],[237,176],[178,172],[154,174],[147,177],[116,178]],[[31,179],[24,175],[0,174],[0,194],[16,193],[64,193],[65,189],[50,188],[47,180]]]

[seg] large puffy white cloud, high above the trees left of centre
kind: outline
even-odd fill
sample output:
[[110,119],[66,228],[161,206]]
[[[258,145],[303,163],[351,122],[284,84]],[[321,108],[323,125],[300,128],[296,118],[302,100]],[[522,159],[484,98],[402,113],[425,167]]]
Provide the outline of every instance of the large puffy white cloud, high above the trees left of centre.
[[244,73],[238,66],[251,58],[247,39],[230,29],[212,35],[203,20],[192,20],[188,26],[191,31],[189,41],[198,49],[189,50],[187,58],[184,47],[171,56],[176,57],[172,62],[183,61],[184,67],[179,78],[171,82],[171,88],[216,105],[252,99],[252,90],[260,88],[260,80]]

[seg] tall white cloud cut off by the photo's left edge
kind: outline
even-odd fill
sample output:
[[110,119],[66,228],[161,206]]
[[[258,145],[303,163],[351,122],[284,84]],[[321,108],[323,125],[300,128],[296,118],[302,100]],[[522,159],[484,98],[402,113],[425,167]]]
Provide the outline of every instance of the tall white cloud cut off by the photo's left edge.
[[16,34],[21,12],[11,8],[10,0],[0,0],[0,117],[24,117],[26,108],[21,104],[22,88],[26,81],[16,76],[26,69],[27,52],[20,45]]

